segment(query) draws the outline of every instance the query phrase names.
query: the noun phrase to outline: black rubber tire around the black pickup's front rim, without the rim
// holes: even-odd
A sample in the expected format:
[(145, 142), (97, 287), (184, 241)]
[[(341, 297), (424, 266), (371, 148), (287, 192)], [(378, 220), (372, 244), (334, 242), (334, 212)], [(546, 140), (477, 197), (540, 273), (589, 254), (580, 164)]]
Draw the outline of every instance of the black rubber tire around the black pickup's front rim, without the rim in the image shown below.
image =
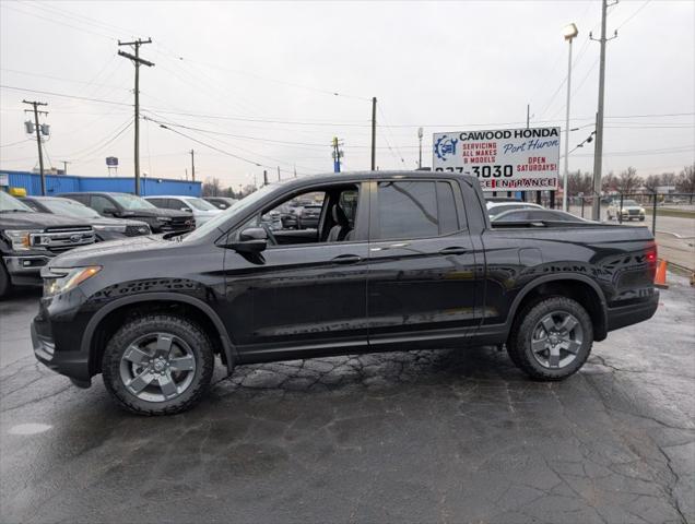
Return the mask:
[[(121, 379), (120, 366), (125, 352), (134, 341), (153, 333), (168, 333), (188, 344), (196, 369), (190, 384), (178, 396), (150, 402), (136, 396)], [(214, 368), (212, 343), (195, 322), (174, 314), (149, 314), (123, 324), (110, 338), (104, 352), (102, 374), (106, 389), (118, 404), (138, 415), (174, 415), (190, 409), (208, 393)]]

